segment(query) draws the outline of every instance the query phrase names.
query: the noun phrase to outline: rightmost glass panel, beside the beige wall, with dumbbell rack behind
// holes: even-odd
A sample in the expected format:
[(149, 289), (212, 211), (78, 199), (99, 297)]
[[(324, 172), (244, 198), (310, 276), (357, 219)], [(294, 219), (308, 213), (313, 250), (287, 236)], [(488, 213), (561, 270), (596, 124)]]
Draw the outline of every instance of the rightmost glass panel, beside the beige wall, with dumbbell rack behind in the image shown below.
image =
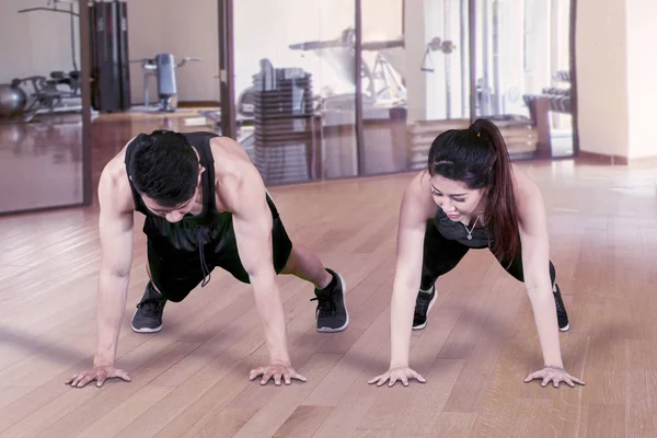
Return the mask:
[(573, 153), (569, 0), (476, 0), (475, 117), (514, 158)]

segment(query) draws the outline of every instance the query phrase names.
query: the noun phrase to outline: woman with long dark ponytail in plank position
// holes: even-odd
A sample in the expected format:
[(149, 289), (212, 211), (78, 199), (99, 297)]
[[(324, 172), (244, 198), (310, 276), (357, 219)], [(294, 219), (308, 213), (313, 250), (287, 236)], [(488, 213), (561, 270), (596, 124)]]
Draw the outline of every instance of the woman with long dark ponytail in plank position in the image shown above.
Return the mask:
[(584, 384), (563, 368), (558, 332), (569, 325), (550, 261), (545, 216), (541, 192), (510, 162), (493, 123), (479, 119), (438, 136), (427, 171), (413, 178), (402, 200), (390, 369), (369, 382), (426, 381), (408, 367), (411, 328), (426, 325), (437, 278), (469, 249), (489, 247), (509, 274), (525, 281), (532, 304), (545, 366), (525, 381)]

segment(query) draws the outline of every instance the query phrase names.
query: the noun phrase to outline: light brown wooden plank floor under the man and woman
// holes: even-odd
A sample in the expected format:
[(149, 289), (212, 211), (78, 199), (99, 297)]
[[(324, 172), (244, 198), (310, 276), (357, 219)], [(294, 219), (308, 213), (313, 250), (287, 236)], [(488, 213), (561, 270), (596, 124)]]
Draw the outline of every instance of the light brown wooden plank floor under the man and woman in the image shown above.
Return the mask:
[[(94, 174), (143, 126), (99, 124)], [(279, 277), (293, 365), (308, 377), (291, 387), (249, 381), (267, 351), (250, 288), (223, 272), (169, 303), (161, 333), (130, 331), (147, 281), (140, 216), (117, 360), (132, 382), (65, 385), (95, 348), (97, 210), (0, 218), (0, 438), (657, 436), (657, 172), (521, 166), (544, 191), (570, 315), (562, 351), (585, 387), (523, 383), (542, 365), (531, 308), (487, 251), (438, 281), (413, 334), (427, 383), (367, 384), (389, 360), (403, 174), (270, 189), (292, 239), (348, 285), (349, 327), (321, 334), (312, 286)]]

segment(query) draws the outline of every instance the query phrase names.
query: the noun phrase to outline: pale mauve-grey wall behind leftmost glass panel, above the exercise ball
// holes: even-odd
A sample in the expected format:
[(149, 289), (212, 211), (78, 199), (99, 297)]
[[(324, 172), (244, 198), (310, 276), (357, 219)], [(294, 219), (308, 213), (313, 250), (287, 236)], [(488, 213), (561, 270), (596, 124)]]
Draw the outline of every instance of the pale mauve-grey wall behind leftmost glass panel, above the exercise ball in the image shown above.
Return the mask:
[[(73, 69), (70, 15), (44, 11), (18, 13), (21, 9), (45, 5), (43, 0), (0, 0), (0, 83)], [(78, 26), (76, 20), (76, 61), (80, 68)], [(31, 91), (30, 87), (27, 90)]]

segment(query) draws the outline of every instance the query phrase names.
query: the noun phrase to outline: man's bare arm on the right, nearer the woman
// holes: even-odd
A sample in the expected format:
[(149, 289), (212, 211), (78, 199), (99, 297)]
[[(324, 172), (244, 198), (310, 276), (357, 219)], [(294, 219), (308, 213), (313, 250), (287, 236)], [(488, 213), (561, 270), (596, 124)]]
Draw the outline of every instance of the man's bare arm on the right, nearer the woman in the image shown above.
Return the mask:
[[(233, 229), (238, 252), (253, 286), (255, 303), (269, 349), (269, 364), (291, 367), (283, 298), (274, 269), (272, 211), (267, 205), (265, 185), (252, 164), (244, 166), (240, 187), (231, 196), (234, 199), (231, 204), (234, 204)], [(286, 383), (288, 382), (286, 378)]]

